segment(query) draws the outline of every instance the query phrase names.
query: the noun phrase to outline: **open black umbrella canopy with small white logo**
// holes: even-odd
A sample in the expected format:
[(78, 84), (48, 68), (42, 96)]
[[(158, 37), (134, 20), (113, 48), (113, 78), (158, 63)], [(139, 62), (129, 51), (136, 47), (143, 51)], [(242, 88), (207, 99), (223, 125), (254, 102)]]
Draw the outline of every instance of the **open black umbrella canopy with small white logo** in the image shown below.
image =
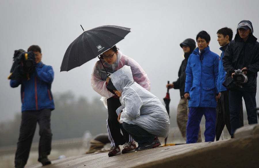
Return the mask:
[[(83, 28), (83, 27), (82, 27)], [(111, 49), (124, 39), (130, 28), (121, 26), (100, 26), (84, 31), (67, 48), (61, 63), (61, 71), (69, 71)]]

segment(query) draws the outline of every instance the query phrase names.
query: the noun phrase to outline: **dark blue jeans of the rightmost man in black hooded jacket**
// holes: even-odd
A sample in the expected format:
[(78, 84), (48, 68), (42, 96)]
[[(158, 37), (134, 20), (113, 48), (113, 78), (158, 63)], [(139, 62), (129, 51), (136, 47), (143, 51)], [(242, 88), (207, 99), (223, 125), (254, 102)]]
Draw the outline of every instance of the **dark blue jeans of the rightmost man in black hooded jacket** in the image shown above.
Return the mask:
[(240, 90), (229, 91), (229, 111), (230, 111), (230, 124), (231, 124), (231, 136), (234, 135), (237, 128), (240, 128), (240, 116), (239, 109), (242, 97), (245, 101), (245, 108), (247, 112), (248, 124), (257, 123), (256, 110), (256, 92), (245, 92)]

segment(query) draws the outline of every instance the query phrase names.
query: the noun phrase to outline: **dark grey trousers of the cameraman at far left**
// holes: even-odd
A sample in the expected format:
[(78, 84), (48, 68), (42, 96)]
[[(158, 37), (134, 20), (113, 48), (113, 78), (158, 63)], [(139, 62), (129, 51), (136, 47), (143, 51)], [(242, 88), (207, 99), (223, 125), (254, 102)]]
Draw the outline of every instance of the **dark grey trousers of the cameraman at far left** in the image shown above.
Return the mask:
[(15, 162), (26, 165), (33, 136), (39, 123), (39, 159), (50, 154), (52, 132), (50, 129), (50, 109), (22, 111), (22, 122), (20, 126), (20, 135), (17, 143)]

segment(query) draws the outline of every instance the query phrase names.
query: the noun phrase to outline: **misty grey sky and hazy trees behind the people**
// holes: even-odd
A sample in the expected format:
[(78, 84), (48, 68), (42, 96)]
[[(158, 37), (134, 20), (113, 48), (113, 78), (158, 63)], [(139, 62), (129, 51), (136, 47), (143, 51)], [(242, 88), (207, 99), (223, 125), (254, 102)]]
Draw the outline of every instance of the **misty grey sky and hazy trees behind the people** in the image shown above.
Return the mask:
[[(103, 25), (131, 28), (132, 32), (117, 47), (142, 66), (151, 81), (151, 92), (163, 102), (167, 91), (165, 85), (168, 80), (177, 80), (184, 59), (180, 43), (186, 38), (196, 39), (198, 32), (205, 30), (211, 36), (210, 50), (220, 55), (216, 32), (227, 26), (233, 29), (234, 38), (241, 20), (252, 22), (254, 36), (258, 38), (258, 6), (259, 1), (254, 0), (2, 0), (0, 131), (14, 127), (12, 130), (17, 132), (8, 132), (16, 135), (14, 143), (17, 142), (21, 114), (20, 86), (11, 88), (7, 79), (16, 49), (27, 50), (31, 45), (39, 45), (43, 63), (52, 65), (54, 69), (54, 139), (66, 138), (63, 133), (56, 132), (68, 130), (74, 132), (68, 135), (70, 137), (83, 136), (84, 130), (96, 135), (106, 133), (108, 115), (100, 101), (101, 96), (92, 89), (90, 81), (98, 58), (68, 72), (60, 72), (67, 47), (83, 33), (80, 24), (84, 30)], [(170, 96), (171, 126), (177, 126), (173, 116), (176, 116), (180, 100), (179, 90), (170, 89)], [(258, 95), (256, 99), (258, 105)]]

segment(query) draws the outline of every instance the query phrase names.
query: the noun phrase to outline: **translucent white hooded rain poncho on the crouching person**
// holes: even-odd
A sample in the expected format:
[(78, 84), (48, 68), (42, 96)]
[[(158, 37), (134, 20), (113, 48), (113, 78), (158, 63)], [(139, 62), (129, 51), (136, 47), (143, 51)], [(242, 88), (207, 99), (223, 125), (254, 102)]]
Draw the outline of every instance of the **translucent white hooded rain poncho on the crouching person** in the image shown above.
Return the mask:
[(129, 66), (125, 65), (111, 76), (111, 81), (121, 92), (122, 110), (120, 123), (136, 124), (157, 137), (167, 137), (170, 128), (170, 119), (165, 106), (161, 101), (139, 84), (133, 81)]

